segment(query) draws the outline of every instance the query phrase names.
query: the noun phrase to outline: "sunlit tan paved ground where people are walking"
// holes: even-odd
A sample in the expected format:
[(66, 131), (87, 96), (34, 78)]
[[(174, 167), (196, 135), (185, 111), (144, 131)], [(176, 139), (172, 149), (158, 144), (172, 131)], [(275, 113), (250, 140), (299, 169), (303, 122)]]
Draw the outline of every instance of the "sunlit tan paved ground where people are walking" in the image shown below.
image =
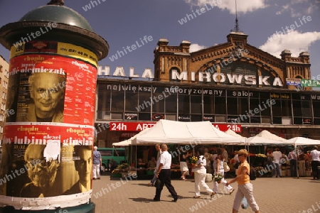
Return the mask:
[[(111, 179), (111, 180), (110, 180)], [(101, 180), (93, 180), (92, 202), (96, 213), (105, 212), (232, 212), (235, 192), (232, 195), (220, 193), (210, 199), (203, 189), (200, 199), (194, 199), (193, 180), (171, 180), (178, 193), (177, 202), (164, 187), (161, 202), (153, 202), (155, 187), (149, 187), (149, 180), (126, 180), (102, 175)], [(213, 182), (207, 182), (213, 187)], [(252, 181), (253, 195), (260, 212), (314, 213), (320, 212), (320, 180), (311, 178), (257, 178)], [(237, 184), (232, 186), (237, 190)], [(309, 211), (309, 212), (308, 212)], [(240, 209), (239, 212), (252, 212)]]

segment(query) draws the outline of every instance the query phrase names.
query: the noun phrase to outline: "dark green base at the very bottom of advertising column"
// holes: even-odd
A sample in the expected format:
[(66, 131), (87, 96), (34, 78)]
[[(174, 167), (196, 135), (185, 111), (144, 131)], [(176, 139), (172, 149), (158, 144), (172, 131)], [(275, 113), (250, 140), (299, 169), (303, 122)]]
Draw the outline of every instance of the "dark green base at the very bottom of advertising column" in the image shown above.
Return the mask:
[(76, 207), (67, 207), (59, 209), (43, 209), (43, 210), (21, 210), (14, 209), (14, 207), (0, 207), (0, 213), (95, 213), (95, 204), (90, 202), (88, 204), (81, 204)]

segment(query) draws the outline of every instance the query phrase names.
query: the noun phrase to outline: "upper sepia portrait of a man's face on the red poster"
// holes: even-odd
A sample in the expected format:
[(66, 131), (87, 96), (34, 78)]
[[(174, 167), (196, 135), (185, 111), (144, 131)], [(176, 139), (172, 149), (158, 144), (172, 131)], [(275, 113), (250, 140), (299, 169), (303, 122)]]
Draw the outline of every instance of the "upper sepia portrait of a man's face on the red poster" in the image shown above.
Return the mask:
[(16, 121), (63, 123), (65, 80), (52, 72), (21, 73)]

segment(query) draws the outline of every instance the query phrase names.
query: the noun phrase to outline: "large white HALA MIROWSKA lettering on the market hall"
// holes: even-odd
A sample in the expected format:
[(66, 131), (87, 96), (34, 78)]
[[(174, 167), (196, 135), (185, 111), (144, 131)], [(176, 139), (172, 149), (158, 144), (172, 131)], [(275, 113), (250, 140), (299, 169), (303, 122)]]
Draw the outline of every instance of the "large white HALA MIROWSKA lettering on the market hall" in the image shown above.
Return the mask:
[[(191, 82), (217, 82), (223, 84), (246, 84), (246, 85), (265, 85), (272, 87), (283, 87), (282, 81), (279, 77), (270, 77), (263, 75), (238, 75), (238, 74), (225, 74), (220, 72), (198, 72), (198, 79), (196, 79), (197, 72), (189, 72), (191, 75)], [(110, 75), (110, 67), (105, 66), (105, 69), (102, 69), (102, 66), (98, 66), (97, 75), (100, 76), (113, 76), (113, 77), (129, 77), (137, 78), (140, 77), (139, 74), (134, 73), (134, 67), (130, 67), (129, 76), (124, 72), (123, 67), (116, 67), (113, 74)], [(142, 78), (154, 78), (154, 74), (150, 68), (144, 69), (142, 73)], [(171, 70), (171, 80), (188, 80), (188, 72), (183, 71), (181, 73), (178, 70)]]

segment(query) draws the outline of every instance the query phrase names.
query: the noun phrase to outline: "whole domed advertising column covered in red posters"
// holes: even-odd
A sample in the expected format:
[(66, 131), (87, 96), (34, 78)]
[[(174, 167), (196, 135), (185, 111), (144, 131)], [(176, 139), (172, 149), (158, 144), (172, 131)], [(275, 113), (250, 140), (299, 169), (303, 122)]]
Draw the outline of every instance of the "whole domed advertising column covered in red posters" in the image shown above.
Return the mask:
[(107, 42), (60, 3), (0, 28), (0, 43), (11, 50), (0, 212), (92, 212), (97, 61)]

